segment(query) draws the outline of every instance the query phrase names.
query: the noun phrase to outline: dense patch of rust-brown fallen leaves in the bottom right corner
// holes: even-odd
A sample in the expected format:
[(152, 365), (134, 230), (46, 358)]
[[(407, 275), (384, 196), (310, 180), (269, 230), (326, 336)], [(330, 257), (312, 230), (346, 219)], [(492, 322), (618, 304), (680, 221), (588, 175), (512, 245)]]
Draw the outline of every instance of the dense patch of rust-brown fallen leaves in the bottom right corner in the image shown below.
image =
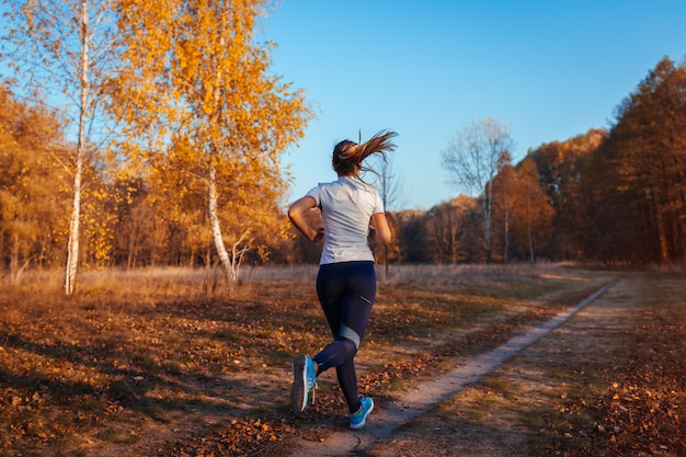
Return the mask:
[[(638, 312), (629, 359), (608, 370), (596, 400), (568, 399), (558, 405), (570, 424), (580, 414), (595, 421), (569, 431), (556, 425), (559, 439), (552, 439), (551, 454), (686, 455), (686, 312), (681, 307), (663, 304)], [(587, 444), (569, 448), (572, 438)]]

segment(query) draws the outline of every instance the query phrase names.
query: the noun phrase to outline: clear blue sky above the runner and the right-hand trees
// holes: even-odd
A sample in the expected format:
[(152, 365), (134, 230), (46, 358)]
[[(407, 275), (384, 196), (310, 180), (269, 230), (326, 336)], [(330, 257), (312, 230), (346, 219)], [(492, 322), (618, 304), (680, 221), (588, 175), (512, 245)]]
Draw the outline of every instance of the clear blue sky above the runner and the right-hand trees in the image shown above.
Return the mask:
[(456, 130), (508, 125), (515, 161), (541, 144), (608, 127), (664, 56), (686, 57), (686, 1), (284, 0), (262, 21), (273, 70), (317, 118), (284, 162), (288, 201), (335, 179), (333, 145), (390, 128), (399, 208), (459, 194), (441, 167)]

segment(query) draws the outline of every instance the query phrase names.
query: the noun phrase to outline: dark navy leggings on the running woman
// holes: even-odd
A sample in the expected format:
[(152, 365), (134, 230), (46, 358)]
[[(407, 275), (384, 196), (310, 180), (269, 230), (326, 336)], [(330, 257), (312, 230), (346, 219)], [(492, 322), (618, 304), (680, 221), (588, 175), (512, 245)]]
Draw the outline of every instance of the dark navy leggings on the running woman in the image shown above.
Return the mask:
[(351, 413), (359, 409), (354, 357), (367, 329), (376, 297), (373, 262), (324, 264), (317, 275), (317, 296), (333, 342), (313, 358), (319, 373), (335, 367), (339, 385)]

